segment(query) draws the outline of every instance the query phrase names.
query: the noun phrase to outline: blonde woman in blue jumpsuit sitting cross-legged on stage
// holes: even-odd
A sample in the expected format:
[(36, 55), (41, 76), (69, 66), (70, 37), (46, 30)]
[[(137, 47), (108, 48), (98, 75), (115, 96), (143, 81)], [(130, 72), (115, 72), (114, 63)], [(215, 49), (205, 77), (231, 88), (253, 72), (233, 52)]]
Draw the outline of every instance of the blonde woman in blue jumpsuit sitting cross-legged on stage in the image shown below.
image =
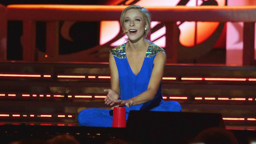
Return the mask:
[[(146, 8), (125, 8), (120, 23), (128, 41), (109, 54), (111, 89), (104, 89), (108, 93), (105, 104), (126, 107), (126, 119), (130, 110), (181, 111), (179, 103), (163, 101), (161, 82), (166, 55), (164, 49), (146, 39), (150, 22)], [(78, 114), (81, 126), (111, 127), (112, 119), (109, 109), (86, 109)]]

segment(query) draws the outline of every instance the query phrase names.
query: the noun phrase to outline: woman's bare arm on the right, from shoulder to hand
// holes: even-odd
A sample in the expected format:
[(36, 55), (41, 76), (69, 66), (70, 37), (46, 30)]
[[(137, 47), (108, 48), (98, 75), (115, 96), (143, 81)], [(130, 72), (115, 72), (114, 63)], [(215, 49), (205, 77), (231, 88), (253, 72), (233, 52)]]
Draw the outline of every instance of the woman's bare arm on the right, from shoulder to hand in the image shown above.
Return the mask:
[(152, 100), (158, 91), (159, 85), (161, 84), (163, 73), (164, 73), (165, 62), (166, 62), (165, 52), (158, 53), (153, 62), (154, 68), (152, 70), (147, 91), (131, 99), (120, 100), (118, 106), (130, 107), (131, 105), (139, 105)]

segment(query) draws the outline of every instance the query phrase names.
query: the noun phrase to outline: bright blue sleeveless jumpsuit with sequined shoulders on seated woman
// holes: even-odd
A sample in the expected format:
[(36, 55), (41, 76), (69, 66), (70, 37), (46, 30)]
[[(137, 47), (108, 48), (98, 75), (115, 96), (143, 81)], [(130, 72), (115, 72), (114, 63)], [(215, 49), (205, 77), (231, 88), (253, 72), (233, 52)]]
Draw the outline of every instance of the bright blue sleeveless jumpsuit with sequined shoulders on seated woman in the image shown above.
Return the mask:
[[(154, 58), (161, 51), (164, 51), (164, 49), (150, 42), (140, 72), (134, 75), (126, 58), (125, 44), (110, 50), (118, 68), (121, 100), (133, 98), (148, 89), (154, 67)], [(140, 105), (132, 105), (129, 108), (126, 107), (126, 119), (130, 110), (181, 112), (181, 106), (175, 101), (163, 101), (160, 84), (153, 100)], [(79, 112), (77, 120), (80, 126), (112, 127), (113, 116), (110, 112), (109, 109), (85, 109)]]

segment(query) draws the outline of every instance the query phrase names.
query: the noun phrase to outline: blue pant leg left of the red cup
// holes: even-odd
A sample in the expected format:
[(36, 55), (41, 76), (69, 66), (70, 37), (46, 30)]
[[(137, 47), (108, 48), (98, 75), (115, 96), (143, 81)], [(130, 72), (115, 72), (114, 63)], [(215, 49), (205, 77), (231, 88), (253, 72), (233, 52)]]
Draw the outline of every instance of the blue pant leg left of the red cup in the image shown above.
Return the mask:
[(85, 109), (79, 112), (77, 120), (80, 126), (87, 127), (112, 127), (113, 116), (109, 109)]

